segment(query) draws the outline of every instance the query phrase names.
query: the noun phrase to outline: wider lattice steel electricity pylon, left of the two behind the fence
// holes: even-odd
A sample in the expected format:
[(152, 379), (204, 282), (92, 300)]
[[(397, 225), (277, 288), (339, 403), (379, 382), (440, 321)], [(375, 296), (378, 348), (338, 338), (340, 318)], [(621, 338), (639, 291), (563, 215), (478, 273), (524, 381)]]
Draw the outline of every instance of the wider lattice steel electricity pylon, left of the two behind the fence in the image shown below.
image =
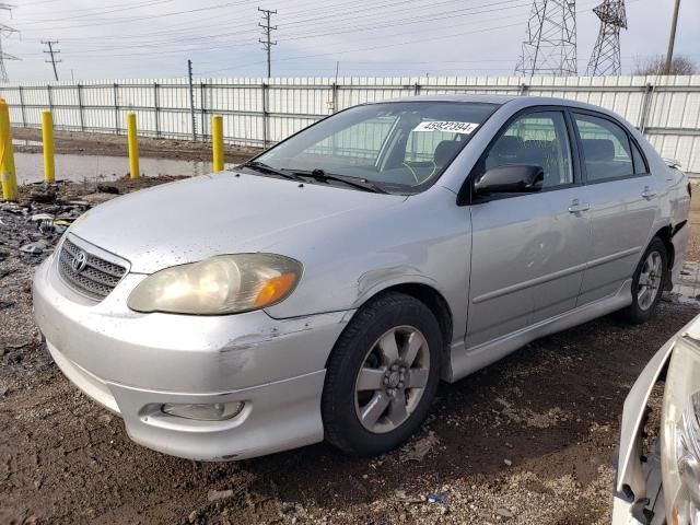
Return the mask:
[(516, 74), (576, 74), (575, 0), (533, 0), (525, 38)]

